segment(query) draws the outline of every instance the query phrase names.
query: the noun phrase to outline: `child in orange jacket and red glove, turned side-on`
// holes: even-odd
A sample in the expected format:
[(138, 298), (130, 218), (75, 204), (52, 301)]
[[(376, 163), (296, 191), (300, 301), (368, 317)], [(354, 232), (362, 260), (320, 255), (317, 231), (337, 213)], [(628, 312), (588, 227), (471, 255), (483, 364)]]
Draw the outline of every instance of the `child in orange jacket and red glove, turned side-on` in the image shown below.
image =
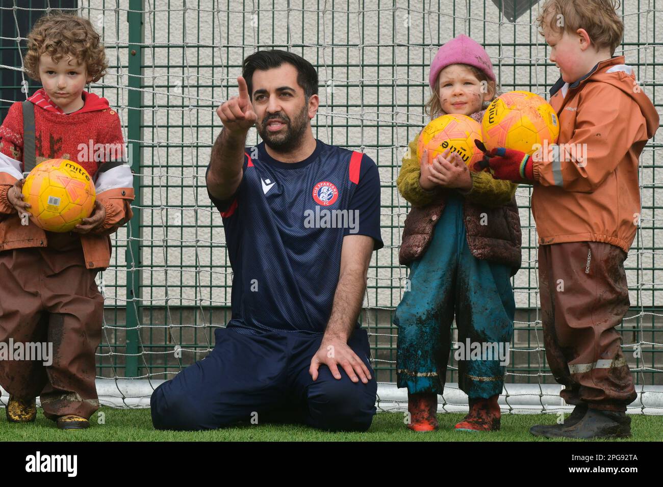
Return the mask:
[(630, 306), (624, 261), (642, 211), (639, 158), (660, 117), (633, 66), (615, 56), (619, 2), (547, 0), (536, 22), (560, 68), (549, 99), (557, 144), (532, 156), (505, 147), (485, 156), (494, 178), (533, 186), (546, 359), (574, 406), (564, 422), (530, 433), (626, 438), (638, 394), (616, 327)]

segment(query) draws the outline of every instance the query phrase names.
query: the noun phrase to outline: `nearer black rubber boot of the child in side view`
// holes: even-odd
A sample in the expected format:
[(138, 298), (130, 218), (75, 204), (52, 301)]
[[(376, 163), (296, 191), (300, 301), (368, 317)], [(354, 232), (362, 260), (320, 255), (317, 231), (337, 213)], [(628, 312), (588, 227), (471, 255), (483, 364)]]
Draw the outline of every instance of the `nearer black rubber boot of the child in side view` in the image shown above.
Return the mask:
[(631, 436), (631, 418), (623, 411), (587, 409), (575, 425), (548, 431), (546, 438), (628, 438)]

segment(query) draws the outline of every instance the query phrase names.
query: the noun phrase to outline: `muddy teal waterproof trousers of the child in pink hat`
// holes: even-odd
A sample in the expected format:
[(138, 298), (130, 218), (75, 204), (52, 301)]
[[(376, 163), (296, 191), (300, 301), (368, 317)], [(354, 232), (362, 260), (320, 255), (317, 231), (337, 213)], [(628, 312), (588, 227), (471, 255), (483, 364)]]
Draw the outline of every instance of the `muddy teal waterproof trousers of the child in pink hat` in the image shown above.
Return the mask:
[(472, 357), (467, 345), (490, 343), (507, 350), (515, 313), (510, 278), (509, 266), (472, 255), (463, 199), (450, 195), (430, 246), (410, 266), (408, 288), (394, 315), (398, 387), (410, 394), (442, 394), (455, 314), (459, 352), (464, 352), (458, 360), (459, 387), (470, 398), (500, 394), (508, 359), (490, 351)]

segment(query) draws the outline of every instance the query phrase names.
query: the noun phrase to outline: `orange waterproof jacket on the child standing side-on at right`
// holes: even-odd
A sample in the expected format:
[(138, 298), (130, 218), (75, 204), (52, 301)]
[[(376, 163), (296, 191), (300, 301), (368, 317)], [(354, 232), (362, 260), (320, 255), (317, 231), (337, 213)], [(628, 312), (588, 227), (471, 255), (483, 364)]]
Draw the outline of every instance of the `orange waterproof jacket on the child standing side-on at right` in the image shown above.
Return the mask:
[(638, 158), (658, 129), (658, 113), (624, 63), (615, 56), (571, 85), (560, 78), (550, 90), (560, 137), (552, 157), (533, 160), (539, 244), (595, 241), (628, 252), (633, 243)]

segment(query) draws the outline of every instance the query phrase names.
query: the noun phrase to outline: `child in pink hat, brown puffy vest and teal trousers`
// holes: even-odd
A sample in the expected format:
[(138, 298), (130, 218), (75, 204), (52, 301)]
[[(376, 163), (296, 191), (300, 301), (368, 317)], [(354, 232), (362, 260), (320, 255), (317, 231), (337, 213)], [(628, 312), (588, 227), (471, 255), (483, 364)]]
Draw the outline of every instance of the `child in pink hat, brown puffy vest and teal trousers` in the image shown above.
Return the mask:
[[(426, 113), (432, 119), (459, 113), (481, 122), (497, 94), (488, 54), (462, 34), (438, 50), (429, 82)], [(410, 286), (394, 315), (398, 387), (408, 389), (408, 427), (438, 427), (437, 394), (444, 390), (455, 315), (458, 383), (469, 397), (469, 414), (455, 427), (499, 429), (497, 399), (515, 312), (511, 276), (520, 268), (516, 184), (470, 172), (459, 154), (448, 150), (432, 164), (425, 151), (418, 160), (417, 144), (418, 136), (396, 182), (412, 204), (399, 253), (400, 263), (410, 267)], [(483, 350), (480, 356), (470, 354), (475, 346)]]

